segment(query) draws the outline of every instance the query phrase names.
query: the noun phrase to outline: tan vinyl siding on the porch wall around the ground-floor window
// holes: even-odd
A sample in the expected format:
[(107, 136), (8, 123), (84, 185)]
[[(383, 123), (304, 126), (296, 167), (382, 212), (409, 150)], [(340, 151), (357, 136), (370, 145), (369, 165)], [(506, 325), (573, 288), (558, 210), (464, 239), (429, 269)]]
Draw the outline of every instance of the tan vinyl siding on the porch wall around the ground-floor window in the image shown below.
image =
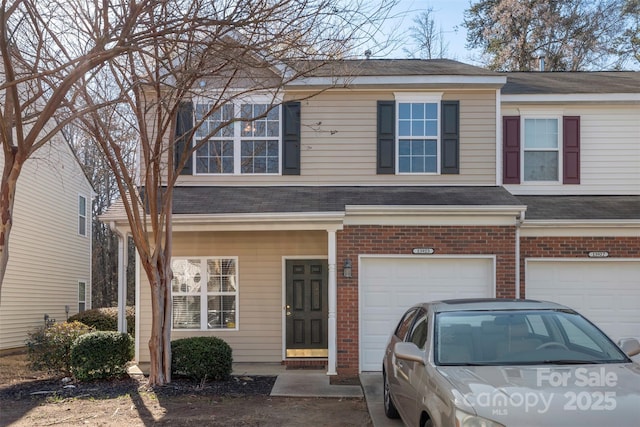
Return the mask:
[[(235, 362), (282, 361), (282, 273), (284, 257), (326, 258), (327, 234), (321, 231), (176, 232), (175, 257), (238, 257), (238, 330), (174, 330), (171, 339), (217, 336), (233, 349)], [(151, 294), (141, 268), (139, 361), (149, 361)]]

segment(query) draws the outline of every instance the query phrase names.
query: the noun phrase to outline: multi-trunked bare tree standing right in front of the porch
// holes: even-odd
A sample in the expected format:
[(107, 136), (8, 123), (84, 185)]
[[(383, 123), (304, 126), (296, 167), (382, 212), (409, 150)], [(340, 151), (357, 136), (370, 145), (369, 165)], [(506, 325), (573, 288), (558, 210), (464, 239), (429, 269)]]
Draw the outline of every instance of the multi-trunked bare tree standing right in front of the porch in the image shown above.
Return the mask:
[[(242, 120), (264, 117), (281, 103), (287, 83), (360, 50), (393, 3), (167, 0), (157, 5), (146, 23), (157, 34), (154, 44), (131, 50), (109, 64), (107, 80), (120, 92), (120, 105), (93, 108), (100, 103), (101, 91), (94, 84), (77, 85), (76, 105), (70, 108), (92, 111), (81, 123), (114, 173), (121, 196), (118, 203), (126, 212), (149, 282), (151, 384), (171, 381), (174, 186), (207, 138), (240, 119), (220, 114), (218, 126), (207, 128), (208, 135), (199, 135), (201, 142), (193, 141), (195, 132), (223, 106), (250, 95), (268, 94), (268, 108)], [(172, 31), (166, 31), (168, 23)], [(201, 82), (206, 82), (207, 90)], [(195, 99), (206, 106), (197, 117), (189, 107)], [(131, 170), (120, 142), (113, 137), (111, 125), (116, 121), (130, 123), (139, 133), (139, 171)], [(193, 126), (185, 126), (192, 121)]]

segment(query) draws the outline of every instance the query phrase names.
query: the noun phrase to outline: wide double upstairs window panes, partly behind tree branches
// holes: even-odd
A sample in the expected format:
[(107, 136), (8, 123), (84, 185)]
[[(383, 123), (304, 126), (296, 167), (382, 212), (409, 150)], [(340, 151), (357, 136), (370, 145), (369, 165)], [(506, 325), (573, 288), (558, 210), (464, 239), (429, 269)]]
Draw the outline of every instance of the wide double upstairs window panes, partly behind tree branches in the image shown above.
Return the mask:
[[(196, 122), (211, 109), (196, 105)], [(230, 123), (233, 119), (237, 121)], [(225, 123), (229, 123), (225, 125)], [(266, 103), (225, 104), (197, 129), (197, 174), (280, 173), (280, 107)]]

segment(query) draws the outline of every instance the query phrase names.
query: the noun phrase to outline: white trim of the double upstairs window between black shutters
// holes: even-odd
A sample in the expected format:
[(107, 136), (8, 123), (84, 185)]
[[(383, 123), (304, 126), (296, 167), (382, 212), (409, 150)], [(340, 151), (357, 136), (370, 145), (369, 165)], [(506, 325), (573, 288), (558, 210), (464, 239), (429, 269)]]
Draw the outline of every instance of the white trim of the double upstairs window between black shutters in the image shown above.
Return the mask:
[[(216, 99), (216, 97), (214, 96), (213, 99), (205, 97), (205, 96), (199, 96), (199, 97), (195, 97), (193, 99), (193, 103), (194, 103), (194, 107), (199, 105), (199, 104), (211, 104), (211, 102), (220, 102), (220, 99)], [(268, 95), (268, 94), (264, 94), (264, 93), (252, 93), (252, 94), (246, 94), (246, 95), (242, 95), (242, 96), (237, 96), (237, 97), (233, 97), (232, 99), (230, 99), (227, 102), (224, 102), (221, 105), (226, 105), (226, 104), (232, 104), (233, 105), (233, 117), (239, 117), (240, 116), (240, 108), (242, 104), (267, 104), (267, 105), (274, 105), (275, 108), (278, 110), (278, 120), (280, 122), (280, 129), (279, 129), (279, 135), (278, 135), (278, 172), (272, 172), (272, 173), (242, 173), (242, 140), (243, 139), (249, 139), (249, 137), (242, 137), (242, 121), (237, 121), (233, 123), (233, 137), (230, 138), (217, 138), (217, 139), (213, 139), (213, 141), (221, 141), (221, 140), (226, 140), (226, 141), (233, 141), (233, 173), (211, 173), (211, 172), (198, 172), (197, 171), (197, 161), (196, 161), (196, 154), (197, 154), (197, 150), (196, 152), (193, 153), (193, 156), (191, 156), (191, 166), (192, 166), (192, 171), (193, 171), (193, 175), (195, 176), (280, 176), (282, 175), (282, 104), (283, 104), (283, 100), (282, 100), (282, 95), (281, 94), (277, 94), (277, 95)], [(194, 108), (194, 114), (195, 114), (195, 108)], [(273, 137), (259, 137), (257, 140), (273, 140)], [(194, 133), (193, 136), (193, 141), (192, 143), (195, 144), (195, 140), (196, 140), (196, 136)]]

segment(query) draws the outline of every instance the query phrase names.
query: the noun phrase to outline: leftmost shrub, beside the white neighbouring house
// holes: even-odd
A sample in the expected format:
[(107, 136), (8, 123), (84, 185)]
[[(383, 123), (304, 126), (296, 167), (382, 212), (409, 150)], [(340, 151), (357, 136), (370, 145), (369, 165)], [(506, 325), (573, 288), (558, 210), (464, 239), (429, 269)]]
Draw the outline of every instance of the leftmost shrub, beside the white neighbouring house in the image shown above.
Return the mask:
[(80, 322), (55, 323), (29, 333), (27, 357), (32, 369), (71, 374), (71, 347), (76, 338), (93, 331)]

